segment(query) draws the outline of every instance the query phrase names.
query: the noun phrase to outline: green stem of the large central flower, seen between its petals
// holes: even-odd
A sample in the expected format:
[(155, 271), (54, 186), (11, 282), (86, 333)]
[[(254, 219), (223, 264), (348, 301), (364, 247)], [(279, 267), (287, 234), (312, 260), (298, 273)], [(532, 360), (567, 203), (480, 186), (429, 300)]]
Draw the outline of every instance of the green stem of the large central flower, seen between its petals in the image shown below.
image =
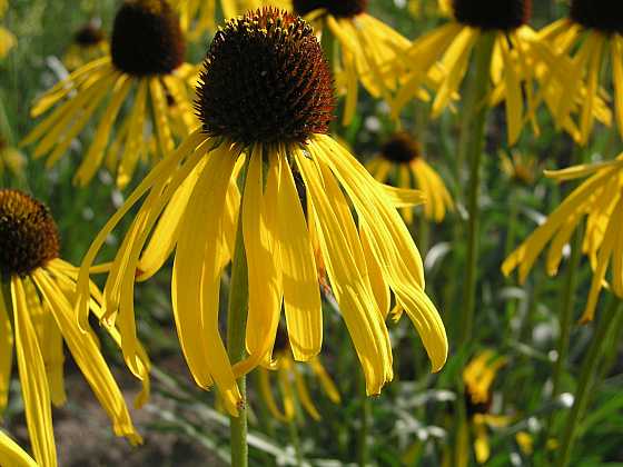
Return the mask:
[[(246, 167), (241, 177), (241, 196), (246, 179)], [(247, 324), (247, 307), (249, 301), (247, 256), (243, 239), (243, 210), (238, 217), (236, 246), (231, 260), (231, 280), (229, 286), (229, 304), (227, 307), (227, 351), (231, 364), (245, 357), (245, 329)], [(243, 405), (238, 408), (238, 417), (230, 417), (229, 431), (231, 444), (231, 466), (248, 466), (247, 446), (247, 408), (246, 408), (246, 377), (238, 378), (238, 388), (243, 395)]]

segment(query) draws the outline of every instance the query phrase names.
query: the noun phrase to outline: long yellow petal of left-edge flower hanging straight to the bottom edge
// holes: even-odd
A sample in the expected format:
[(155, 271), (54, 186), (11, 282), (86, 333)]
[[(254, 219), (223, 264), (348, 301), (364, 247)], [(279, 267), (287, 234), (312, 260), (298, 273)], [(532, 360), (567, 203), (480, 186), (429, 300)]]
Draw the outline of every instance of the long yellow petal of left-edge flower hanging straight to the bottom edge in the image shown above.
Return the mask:
[(18, 369), (30, 444), (38, 464), (56, 467), (57, 451), (46, 364), (30, 319), (23, 285), (17, 276), (11, 277), (11, 298)]

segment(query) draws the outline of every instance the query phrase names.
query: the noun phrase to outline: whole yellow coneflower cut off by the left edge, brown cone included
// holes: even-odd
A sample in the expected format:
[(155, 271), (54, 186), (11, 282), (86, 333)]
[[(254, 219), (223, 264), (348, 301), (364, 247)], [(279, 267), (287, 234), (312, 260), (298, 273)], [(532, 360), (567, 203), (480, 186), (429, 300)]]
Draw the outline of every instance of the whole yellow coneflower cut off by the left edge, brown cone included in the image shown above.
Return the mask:
[[(20, 191), (0, 190), (0, 411), (8, 403), (13, 348), (21, 382), (26, 421), (34, 459), (57, 465), (51, 404), (66, 400), (63, 342), (85, 375), (118, 436), (140, 443), (123, 396), (99, 349), (95, 332), (76, 322), (73, 299), (78, 270), (59, 258), (59, 238), (48, 209)], [(101, 317), (100, 294), (87, 284), (88, 307)], [(108, 334), (119, 344), (115, 327)], [(137, 376), (149, 389), (148, 360), (139, 351)]]

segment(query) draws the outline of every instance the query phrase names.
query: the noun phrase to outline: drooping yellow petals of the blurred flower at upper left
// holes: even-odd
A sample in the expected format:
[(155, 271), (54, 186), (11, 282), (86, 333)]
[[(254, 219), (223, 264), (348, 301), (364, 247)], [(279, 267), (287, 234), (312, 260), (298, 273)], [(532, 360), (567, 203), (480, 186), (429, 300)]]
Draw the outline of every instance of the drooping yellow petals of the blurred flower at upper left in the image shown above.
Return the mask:
[[(95, 137), (73, 177), (86, 186), (106, 163), (125, 187), (138, 162), (147, 156), (165, 157), (175, 138), (185, 138), (198, 126), (190, 88), (196, 70), (182, 64), (166, 76), (135, 77), (118, 70), (110, 57), (96, 59), (73, 71), (38, 99), (32, 117), (51, 112), (27, 135), (22, 146), (34, 145), (33, 157), (53, 166), (83, 131), (96, 110), (103, 109)], [(131, 101), (131, 110), (122, 108)], [(156, 149), (145, 145), (152, 128)]]

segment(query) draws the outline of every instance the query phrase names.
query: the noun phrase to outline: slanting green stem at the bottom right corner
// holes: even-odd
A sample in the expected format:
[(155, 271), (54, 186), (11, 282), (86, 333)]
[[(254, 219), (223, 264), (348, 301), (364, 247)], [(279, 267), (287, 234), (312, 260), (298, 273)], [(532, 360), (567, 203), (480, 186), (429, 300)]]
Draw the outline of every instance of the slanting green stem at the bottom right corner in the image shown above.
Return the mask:
[(596, 389), (593, 387), (593, 381), (595, 379), (595, 374), (597, 372), (600, 357), (603, 354), (602, 350), (605, 337), (611, 328), (611, 325), (616, 318), (620, 305), (621, 300), (616, 297), (612, 297), (612, 301), (605, 309), (603, 316), (599, 316), (595, 319), (596, 329), (591, 337), (591, 345), (584, 356), (584, 361), (582, 362), (575, 399), (565, 424), (561, 450), (556, 463), (557, 467), (566, 467), (571, 459), (577, 426), (584, 415), (584, 410), (586, 409), (591, 395), (594, 394)]

